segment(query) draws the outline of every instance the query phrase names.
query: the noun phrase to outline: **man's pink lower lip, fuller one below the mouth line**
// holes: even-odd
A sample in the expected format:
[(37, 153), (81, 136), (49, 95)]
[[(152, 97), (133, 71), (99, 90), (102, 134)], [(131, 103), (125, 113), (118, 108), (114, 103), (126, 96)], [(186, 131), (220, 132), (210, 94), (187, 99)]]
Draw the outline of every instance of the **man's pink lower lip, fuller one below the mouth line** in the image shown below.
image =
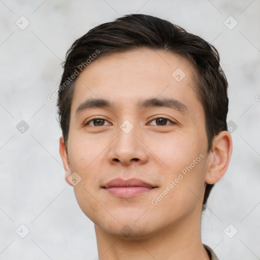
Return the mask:
[(131, 198), (135, 197), (138, 194), (142, 194), (152, 190), (152, 188), (142, 187), (142, 186), (134, 186), (134, 187), (110, 187), (106, 188), (106, 190), (112, 195), (120, 198)]

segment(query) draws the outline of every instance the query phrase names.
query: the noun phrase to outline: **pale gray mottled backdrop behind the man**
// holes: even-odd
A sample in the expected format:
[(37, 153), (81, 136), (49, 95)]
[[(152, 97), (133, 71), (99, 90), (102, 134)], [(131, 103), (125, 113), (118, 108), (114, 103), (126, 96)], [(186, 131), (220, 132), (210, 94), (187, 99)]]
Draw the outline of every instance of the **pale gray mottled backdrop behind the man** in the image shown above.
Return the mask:
[[(220, 259), (259, 259), (259, 0), (0, 1), (0, 259), (98, 257), (93, 224), (64, 180), (56, 100), (47, 96), (58, 87), (71, 44), (93, 26), (129, 13), (168, 19), (219, 51), (234, 150), (203, 213), (202, 238)], [(26, 28), (21, 16), (29, 21)], [(24, 133), (16, 127), (22, 120), (29, 126), (20, 128)], [(25, 238), (21, 224), (29, 229)]]

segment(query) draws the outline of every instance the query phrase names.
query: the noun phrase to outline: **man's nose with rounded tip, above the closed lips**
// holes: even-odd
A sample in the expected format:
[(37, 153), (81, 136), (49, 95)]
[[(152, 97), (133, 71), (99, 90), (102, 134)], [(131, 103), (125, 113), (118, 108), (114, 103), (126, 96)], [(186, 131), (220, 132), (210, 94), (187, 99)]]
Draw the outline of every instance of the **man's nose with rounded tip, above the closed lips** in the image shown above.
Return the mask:
[(110, 145), (107, 154), (109, 162), (124, 166), (145, 164), (149, 157), (148, 148), (141, 141), (143, 138), (140, 131), (137, 131), (137, 127), (134, 127), (129, 133), (122, 129), (118, 129), (117, 138)]

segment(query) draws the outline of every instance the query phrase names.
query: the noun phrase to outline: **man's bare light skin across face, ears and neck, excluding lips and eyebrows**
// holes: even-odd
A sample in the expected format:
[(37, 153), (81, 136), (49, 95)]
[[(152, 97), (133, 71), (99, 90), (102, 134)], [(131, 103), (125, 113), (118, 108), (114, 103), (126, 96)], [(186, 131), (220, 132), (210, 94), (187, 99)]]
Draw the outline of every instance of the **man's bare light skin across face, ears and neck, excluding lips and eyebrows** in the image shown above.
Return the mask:
[[(178, 68), (186, 75), (180, 82), (172, 76)], [(229, 132), (219, 133), (207, 152), (193, 77), (185, 58), (147, 48), (100, 57), (78, 76), (67, 149), (61, 137), (59, 151), (67, 182), (72, 185), (74, 172), (81, 177), (74, 192), (94, 222), (100, 259), (210, 259), (201, 241), (202, 202), (206, 183), (219, 181), (228, 168), (232, 139)], [(175, 99), (187, 110), (136, 107), (151, 98)], [(114, 107), (76, 113), (88, 99), (106, 99)], [(125, 120), (133, 125), (127, 134), (120, 128)], [(153, 205), (200, 154), (204, 158)], [(139, 178), (156, 188), (118, 198), (103, 188), (114, 178)]]

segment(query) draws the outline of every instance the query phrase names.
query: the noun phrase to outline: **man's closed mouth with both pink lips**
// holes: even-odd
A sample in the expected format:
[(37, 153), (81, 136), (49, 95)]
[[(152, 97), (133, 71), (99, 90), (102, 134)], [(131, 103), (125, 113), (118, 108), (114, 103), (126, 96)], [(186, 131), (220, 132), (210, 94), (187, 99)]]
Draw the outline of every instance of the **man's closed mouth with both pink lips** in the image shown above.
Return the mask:
[(115, 197), (132, 198), (139, 194), (149, 192), (157, 188), (157, 186), (153, 186), (150, 183), (136, 178), (128, 180), (117, 178), (109, 181), (102, 188)]

